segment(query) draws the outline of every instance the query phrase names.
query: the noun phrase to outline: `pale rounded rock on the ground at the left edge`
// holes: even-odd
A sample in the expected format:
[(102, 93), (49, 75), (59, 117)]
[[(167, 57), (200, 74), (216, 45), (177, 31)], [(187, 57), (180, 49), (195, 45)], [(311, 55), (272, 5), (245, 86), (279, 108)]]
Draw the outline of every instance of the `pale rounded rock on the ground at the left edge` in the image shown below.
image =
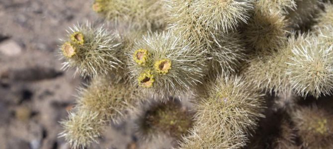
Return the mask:
[(22, 48), (13, 40), (5, 40), (0, 43), (0, 52), (6, 56), (16, 56), (22, 52)]

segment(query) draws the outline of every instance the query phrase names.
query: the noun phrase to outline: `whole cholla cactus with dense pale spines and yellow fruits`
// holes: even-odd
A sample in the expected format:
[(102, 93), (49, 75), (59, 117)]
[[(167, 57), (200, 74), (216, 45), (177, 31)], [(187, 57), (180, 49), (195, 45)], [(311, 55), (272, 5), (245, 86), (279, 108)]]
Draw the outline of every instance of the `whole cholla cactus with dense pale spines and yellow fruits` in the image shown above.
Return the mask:
[[(333, 95), (329, 0), (94, 0), (92, 9), (112, 31), (75, 26), (59, 50), (65, 69), (92, 80), (61, 122), (74, 148), (137, 109), (139, 140), (172, 137), (177, 149), (332, 148), (330, 111), (304, 108)], [(191, 99), (194, 117), (170, 98)], [(276, 114), (274, 128), (263, 126)], [(267, 132), (250, 143), (255, 131)]]

